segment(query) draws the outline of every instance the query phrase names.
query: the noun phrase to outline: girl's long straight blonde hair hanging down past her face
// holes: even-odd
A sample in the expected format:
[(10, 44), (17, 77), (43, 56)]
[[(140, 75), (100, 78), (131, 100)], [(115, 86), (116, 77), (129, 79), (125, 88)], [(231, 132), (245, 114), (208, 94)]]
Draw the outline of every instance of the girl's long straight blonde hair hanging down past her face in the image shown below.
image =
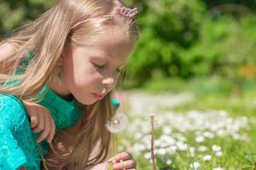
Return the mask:
[[(55, 79), (57, 64), (63, 49), (69, 45), (79, 44), (86, 37), (104, 32), (104, 26), (122, 26), (127, 33), (127, 38), (136, 41), (138, 32), (134, 18), (114, 16), (119, 8), (124, 6), (125, 4), (120, 0), (60, 0), (38, 20), (20, 27), (14, 35), (0, 43), (0, 45), (6, 42), (15, 44), (13, 54), (0, 59), (0, 65), (3, 65), (0, 71), (0, 83), (22, 81), (15, 86), (0, 86), (0, 94), (12, 94), (20, 99), (33, 101), (44, 85), (49, 85)], [(82, 17), (93, 18), (95, 14), (112, 13), (113, 16), (96, 17), (71, 30), (73, 24)], [(34, 59), (29, 61), (23, 74), (14, 76), (20, 62), (25, 59), (27, 51), (32, 51), (35, 55)], [(36, 100), (38, 101), (40, 99)], [(55, 162), (60, 169), (82, 169), (102, 162), (108, 156), (111, 134), (104, 125), (113, 116), (110, 94), (101, 101), (87, 106), (86, 109), (84, 105), (78, 105), (84, 110), (84, 114), (77, 138), (66, 147), (66, 150), (67, 148), (70, 150), (63, 154), (63, 150), (58, 148), (58, 144), (65, 140), (61, 135), (63, 132), (57, 134), (55, 143), (52, 145), (53, 153), (61, 156), (59, 159), (61, 161)], [(68, 137), (65, 136), (65, 138)], [(92, 152), (94, 152), (93, 156)]]

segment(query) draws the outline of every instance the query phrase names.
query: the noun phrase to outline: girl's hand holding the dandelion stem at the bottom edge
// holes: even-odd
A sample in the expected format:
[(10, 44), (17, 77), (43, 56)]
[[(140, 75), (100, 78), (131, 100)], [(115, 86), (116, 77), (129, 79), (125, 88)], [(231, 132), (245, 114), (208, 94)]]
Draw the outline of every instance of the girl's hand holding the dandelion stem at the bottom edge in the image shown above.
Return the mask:
[(122, 152), (113, 156), (109, 161), (113, 162), (113, 170), (129, 169), (136, 170), (137, 162), (128, 152)]

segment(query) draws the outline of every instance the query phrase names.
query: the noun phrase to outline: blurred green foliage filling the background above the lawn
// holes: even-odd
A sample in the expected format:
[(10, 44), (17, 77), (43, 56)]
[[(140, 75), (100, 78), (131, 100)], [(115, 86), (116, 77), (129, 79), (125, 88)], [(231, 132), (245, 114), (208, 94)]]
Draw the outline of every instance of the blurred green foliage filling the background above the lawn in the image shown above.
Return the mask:
[[(37, 18), (56, 1), (2, 0), (1, 37)], [(256, 65), (253, 0), (125, 2), (139, 9), (140, 28), (140, 40), (125, 74), (129, 82), (126, 86), (141, 87), (151, 78), (217, 75), (239, 89), (247, 78), (241, 74), (241, 66)], [(225, 4), (236, 8), (222, 8)]]

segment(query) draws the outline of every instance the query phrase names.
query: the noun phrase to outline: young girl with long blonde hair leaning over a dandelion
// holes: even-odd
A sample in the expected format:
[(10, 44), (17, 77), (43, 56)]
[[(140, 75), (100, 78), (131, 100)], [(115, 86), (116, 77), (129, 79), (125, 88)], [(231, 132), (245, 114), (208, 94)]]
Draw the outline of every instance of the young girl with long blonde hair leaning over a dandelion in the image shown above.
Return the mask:
[[(137, 42), (136, 13), (119, 0), (60, 0), (0, 43), (0, 169), (108, 169), (105, 123)], [(56, 128), (52, 144), (37, 144), (26, 112), (32, 105), (42, 105), (45, 128)], [(136, 169), (127, 152), (110, 161)]]

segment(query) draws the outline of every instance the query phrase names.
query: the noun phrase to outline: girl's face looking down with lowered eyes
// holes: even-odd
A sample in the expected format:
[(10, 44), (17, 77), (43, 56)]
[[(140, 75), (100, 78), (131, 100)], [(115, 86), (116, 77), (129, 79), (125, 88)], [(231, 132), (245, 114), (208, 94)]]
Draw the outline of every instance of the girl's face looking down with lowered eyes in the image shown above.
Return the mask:
[[(84, 105), (91, 105), (114, 88), (119, 71), (135, 47), (119, 26), (108, 26), (104, 34), (84, 39), (62, 55), (62, 85), (55, 91), (63, 97), (72, 94)], [(106, 90), (105, 90), (106, 89)]]

